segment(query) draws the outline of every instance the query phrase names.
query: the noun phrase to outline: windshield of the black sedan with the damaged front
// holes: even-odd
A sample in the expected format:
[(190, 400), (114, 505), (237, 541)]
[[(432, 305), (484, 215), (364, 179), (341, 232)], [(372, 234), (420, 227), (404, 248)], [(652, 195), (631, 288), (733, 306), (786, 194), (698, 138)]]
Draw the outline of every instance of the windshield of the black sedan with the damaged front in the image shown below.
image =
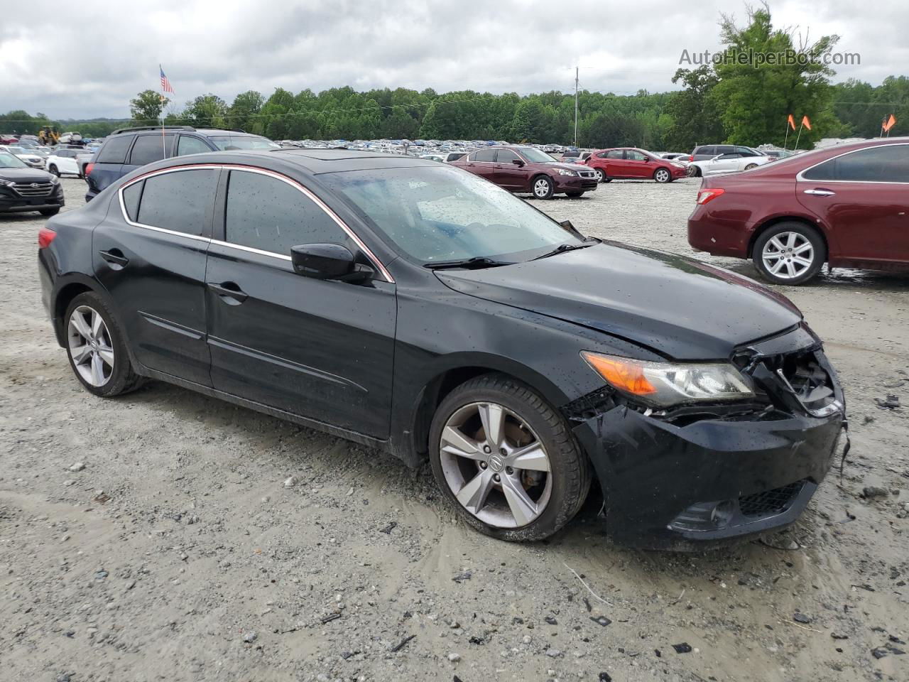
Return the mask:
[(319, 179), (421, 264), (517, 262), (582, 243), (523, 199), (456, 168), (383, 168)]

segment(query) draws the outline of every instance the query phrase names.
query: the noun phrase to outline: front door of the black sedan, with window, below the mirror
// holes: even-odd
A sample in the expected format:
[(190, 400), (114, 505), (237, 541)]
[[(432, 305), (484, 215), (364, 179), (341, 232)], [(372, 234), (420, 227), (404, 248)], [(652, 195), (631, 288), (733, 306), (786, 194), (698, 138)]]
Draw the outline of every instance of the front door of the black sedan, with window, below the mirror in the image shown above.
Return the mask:
[(221, 194), (205, 275), (215, 388), (386, 438), (394, 283), (378, 273), (360, 284), (297, 275), (292, 246), (359, 247), (284, 176), (233, 169)]

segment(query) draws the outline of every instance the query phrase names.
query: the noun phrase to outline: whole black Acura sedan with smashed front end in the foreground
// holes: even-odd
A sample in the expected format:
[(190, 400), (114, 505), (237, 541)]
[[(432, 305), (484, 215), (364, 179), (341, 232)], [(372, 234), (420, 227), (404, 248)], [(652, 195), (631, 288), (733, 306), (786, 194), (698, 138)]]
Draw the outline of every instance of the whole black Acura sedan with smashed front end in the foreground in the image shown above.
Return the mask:
[(50, 220), (76, 378), (171, 382), (426, 458), (467, 523), (552, 535), (594, 478), (651, 547), (788, 524), (844, 398), (783, 296), (602, 243), (432, 161), (346, 150), (157, 162)]

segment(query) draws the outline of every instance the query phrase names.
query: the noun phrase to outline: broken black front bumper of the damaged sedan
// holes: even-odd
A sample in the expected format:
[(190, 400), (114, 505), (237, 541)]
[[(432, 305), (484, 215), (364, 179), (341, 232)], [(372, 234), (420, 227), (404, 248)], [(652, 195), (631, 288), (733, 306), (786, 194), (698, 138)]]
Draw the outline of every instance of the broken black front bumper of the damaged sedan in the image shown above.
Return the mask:
[[(692, 549), (802, 513), (848, 442), (834, 370), (804, 327), (743, 349), (740, 364), (764, 389), (763, 406), (654, 414), (603, 396), (574, 406), (574, 435), (594, 463), (615, 541)], [(804, 385), (805, 366), (823, 366), (823, 405), (823, 386)]]

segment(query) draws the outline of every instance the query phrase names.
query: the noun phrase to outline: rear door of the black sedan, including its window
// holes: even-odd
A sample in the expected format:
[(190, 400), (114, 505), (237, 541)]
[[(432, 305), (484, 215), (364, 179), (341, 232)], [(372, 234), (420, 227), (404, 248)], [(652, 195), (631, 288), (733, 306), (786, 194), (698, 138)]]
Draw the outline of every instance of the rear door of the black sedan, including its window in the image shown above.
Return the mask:
[(204, 386), (205, 252), (220, 172), (168, 169), (135, 181), (112, 198), (92, 236), (95, 276), (136, 359)]

